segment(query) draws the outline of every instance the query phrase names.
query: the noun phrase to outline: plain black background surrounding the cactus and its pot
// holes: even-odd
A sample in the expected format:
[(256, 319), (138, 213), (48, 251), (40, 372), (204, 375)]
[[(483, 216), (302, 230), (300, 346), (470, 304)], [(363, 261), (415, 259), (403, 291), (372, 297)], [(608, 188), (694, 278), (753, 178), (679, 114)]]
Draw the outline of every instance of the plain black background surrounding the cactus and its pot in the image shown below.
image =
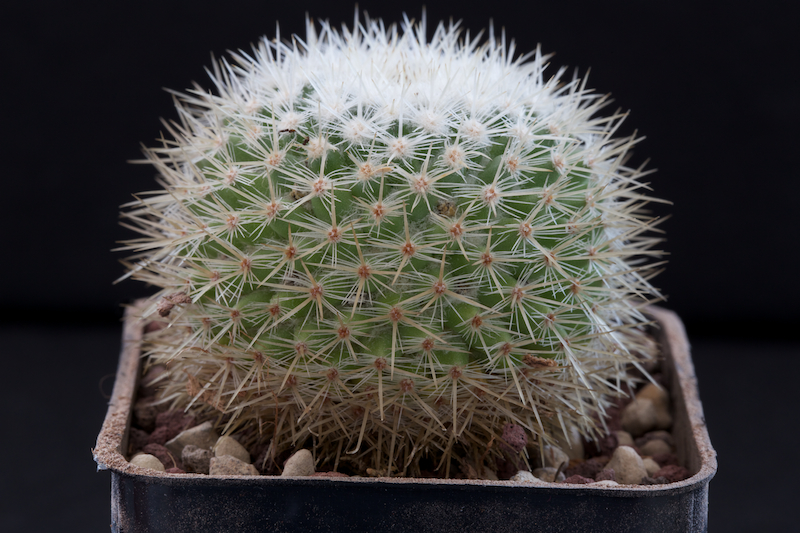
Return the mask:
[[(0, 126), (0, 529), (108, 527), (108, 474), (90, 448), (118, 350), (120, 304), (148, 293), (110, 250), (118, 206), (154, 185), (126, 161), (175, 118), (163, 87), (205, 86), (210, 53), (304, 32), (325, 2), (64, 2), (2, 13)], [(711, 531), (790, 531), (794, 377), (800, 371), (796, 18), (782, 2), (431, 2), (474, 33), (493, 19), (519, 51), (591, 67), (589, 85), (630, 110), (654, 194), (673, 202), (670, 264), (655, 284), (686, 322), (720, 473)], [(360, 2), (385, 21), (414, 2)], [(553, 69), (555, 70), (555, 69)], [(610, 108), (609, 111), (613, 110)], [(49, 426), (48, 426), (49, 424)], [(766, 451), (760, 447), (767, 447)], [(45, 505), (51, 506), (46, 511)], [(55, 507), (52, 507), (55, 506)], [(795, 526), (797, 527), (797, 526)]]

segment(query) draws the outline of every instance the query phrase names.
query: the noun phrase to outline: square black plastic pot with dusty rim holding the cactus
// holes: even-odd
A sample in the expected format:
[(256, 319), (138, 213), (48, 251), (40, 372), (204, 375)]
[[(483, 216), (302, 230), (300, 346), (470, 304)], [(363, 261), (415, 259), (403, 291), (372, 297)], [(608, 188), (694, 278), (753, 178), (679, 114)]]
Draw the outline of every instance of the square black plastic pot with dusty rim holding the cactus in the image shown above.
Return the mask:
[(153, 475), (128, 463), (131, 406), (139, 375), (141, 324), (128, 314), (113, 396), (94, 449), (111, 471), (114, 532), (408, 531), (437, 533), (676, 533), (708, 529), (708, 484), (716, 453), (703, 418), (689, 345), (678, 317), (650, 313), (666, 357), (673, 437), (693, 474), (668, 485), (593, 487), (512, 481), (413, 478)]

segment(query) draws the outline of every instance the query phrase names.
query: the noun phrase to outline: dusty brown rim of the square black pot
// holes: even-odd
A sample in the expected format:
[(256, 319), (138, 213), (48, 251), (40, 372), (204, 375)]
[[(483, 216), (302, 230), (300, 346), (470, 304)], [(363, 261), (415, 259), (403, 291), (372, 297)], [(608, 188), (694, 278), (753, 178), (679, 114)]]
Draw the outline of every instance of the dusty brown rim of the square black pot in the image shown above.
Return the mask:
[[(535, 490), (541, 494), (564, 493), (569, 491), (575, 495), (610, 496), (610, 497), (656, 497), (681, 494), (696, 490), (699, 485), (707, 484), (716, 474), (716, 451), (711, 446), (708, 428), (703, 415), (703, 407), (697, 389), (697, 376), (692, 364), (689, 342), (686, 331), (678, 315), (673, 311), (657, 306), (649, 306), (645, 313), (653, 318), (655, 335), (664, 352), (665, 371), (672, 373), (670, 392), (673, 406), (686, 409), (691, 427), (688, 450), (683, 450), (682, 463), (694, 466), (689, 468), (695, 473), (687, 479), (662, 485), (620, 485), (618, 487), (592, 486), (593, 484), (546, 483), (531, 484), (518, 481), (502, 480), (470, 480), (439, 478), (401, 478), (401, 477), (281, 477), (281, 476), (211, 476), (205, 474), (171, 474), (157, 472), (130, 464), (122, 454), (122, 444), (127, 441), (127, 434), (132, 419), (132, 405), (135, 400), (141, 363), (140, 343), (143, 327), (139, 319), (144, 302), (138, 301), (128, 306), (125, 312), (123, 341), (117, 368), (114, 390), (109, 401), (97, 444), (92, 454), (98, 470), (111, 470), (122, 476), (142, 478), (165, 485), (203, 485), (221, 484), (247, 486), (317, 486), (334, 483), (366, 484), (386, 487), (387, 485), (413, 486), (419, 489), (447, 488), (454, 490)], [(679, 448), (679, 453), (681, 452)]]

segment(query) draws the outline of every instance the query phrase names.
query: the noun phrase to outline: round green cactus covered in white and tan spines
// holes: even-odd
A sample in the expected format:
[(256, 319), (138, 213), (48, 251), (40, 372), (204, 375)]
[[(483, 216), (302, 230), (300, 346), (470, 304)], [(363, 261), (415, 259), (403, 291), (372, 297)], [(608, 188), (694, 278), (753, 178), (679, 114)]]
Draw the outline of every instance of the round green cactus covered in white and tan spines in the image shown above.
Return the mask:
[[(262, 40), (176, 95), (125, 206), (166, 402), (388, 474), (473, 464), (507, 423), (603, 434), (655, 356), (657, 219), (624, 115), (537, 49), (367, 20)], [(499, 441), (498, 441), (499, 442)]]

